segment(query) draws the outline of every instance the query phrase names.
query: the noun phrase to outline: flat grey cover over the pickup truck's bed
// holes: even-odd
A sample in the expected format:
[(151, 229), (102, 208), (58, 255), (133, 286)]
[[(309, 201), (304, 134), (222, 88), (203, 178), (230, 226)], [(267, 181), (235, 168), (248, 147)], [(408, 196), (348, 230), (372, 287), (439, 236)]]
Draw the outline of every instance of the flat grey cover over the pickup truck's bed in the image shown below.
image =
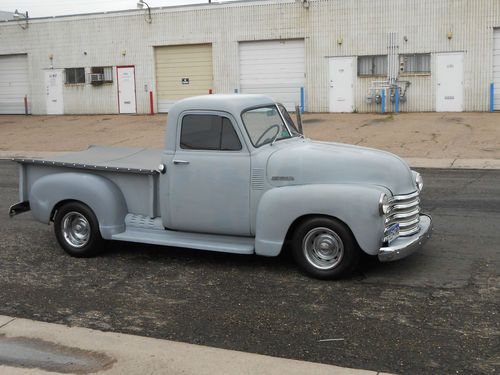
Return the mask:
[(84, 151), (70, 152), (48, 159), (16, 158), (26, 164), (57, 167), (155, 174), (162, 150), (128, 147), (90, 146)]

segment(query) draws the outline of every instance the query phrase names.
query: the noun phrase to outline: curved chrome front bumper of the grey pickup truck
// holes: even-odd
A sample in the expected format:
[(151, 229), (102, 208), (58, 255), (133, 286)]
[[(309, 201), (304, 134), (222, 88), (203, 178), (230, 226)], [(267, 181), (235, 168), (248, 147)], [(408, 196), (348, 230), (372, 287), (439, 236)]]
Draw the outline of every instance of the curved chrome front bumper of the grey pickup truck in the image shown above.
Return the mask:
[(409, 237), (399, 237), (391, 242), (390, 246), (381, 247), (378, 259), (381, 262), (390, 262), (406, 258), (413, 254), (431, 237), (432, 218), (429, 215), (420, 215), (420, 231)]

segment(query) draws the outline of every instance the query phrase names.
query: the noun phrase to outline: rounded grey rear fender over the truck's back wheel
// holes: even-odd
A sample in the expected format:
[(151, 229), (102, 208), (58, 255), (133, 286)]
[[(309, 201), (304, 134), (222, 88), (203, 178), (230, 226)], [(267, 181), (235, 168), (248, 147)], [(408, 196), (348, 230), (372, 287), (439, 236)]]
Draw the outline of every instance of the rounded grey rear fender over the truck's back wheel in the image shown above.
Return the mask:
[(65, 200), (89, 206), (97, 216), (103, 238), (110, 239), (113, 234), (125, 230), (125, 198), (107, 178), (89, 173), (56, 173), (41, 177), (31, 187), (31, 212), (42, 223), (49, 223), (54, 207)]

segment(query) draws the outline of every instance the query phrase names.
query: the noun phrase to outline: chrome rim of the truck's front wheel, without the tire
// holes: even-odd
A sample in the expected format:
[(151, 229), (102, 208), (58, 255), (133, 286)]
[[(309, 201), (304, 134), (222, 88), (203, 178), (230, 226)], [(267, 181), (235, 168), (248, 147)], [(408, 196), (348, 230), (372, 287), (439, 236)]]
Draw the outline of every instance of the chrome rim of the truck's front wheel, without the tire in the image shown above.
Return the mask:
[(321, 270), (337, 267), (344, 257), (342, 239), (333, 230), (324, 227), (307, 232), (302, 241), (302, 250), (307, 261)]

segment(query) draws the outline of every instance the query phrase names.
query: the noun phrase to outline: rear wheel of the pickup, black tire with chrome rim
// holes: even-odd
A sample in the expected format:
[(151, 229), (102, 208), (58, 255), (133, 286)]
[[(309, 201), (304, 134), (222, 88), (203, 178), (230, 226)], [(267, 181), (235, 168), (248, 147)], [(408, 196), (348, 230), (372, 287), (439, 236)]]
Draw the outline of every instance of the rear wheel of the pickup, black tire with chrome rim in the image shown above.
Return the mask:
[(57, 209), (54, 232), (59, 245), (73, 257), (94, 256), (104, 243), (94, 212), (80, 202), (65, 203)]

